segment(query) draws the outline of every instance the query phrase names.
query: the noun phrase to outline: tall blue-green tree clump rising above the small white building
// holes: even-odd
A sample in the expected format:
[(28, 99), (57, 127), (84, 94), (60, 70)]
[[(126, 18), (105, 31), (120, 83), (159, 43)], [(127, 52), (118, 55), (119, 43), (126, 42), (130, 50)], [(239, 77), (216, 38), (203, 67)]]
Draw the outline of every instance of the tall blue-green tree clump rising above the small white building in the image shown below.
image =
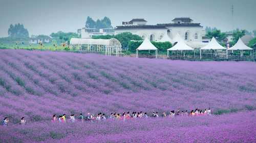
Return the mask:
[(87, 17), (86, 20), (86, 28), (96, 28), (96, 29), (103, 29), (103, 28), (112, 28), (111, 20), (108, 17), (104, 17), (103, 19), (97, 19), (96, 22), (90, 17)]

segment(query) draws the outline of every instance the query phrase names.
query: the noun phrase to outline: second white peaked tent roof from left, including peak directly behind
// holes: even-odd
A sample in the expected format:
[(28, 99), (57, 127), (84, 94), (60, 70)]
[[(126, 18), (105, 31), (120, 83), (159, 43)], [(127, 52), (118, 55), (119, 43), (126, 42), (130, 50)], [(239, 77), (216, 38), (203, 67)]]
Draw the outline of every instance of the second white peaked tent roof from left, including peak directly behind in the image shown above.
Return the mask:
[(174, 37), (174, 42), (177, 42), (173, 47), (167, 49), (167, 51), (185, 51), (185, 50), (194, 50), (192, 47), (188, 46), (185, 41), (180, 37), (180, 34), (177, 33), (177, 35)]

